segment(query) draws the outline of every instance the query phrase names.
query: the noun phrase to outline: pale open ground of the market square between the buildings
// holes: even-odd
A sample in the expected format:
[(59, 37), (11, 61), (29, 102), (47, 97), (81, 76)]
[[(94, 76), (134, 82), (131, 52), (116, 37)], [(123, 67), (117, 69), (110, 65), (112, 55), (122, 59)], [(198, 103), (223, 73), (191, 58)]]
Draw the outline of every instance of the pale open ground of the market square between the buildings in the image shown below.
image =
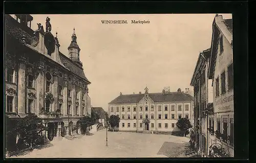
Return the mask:
[(99, 158), (99, 157), (184, 157), (188, 137), (108, 132), (109, 146), (105, 146), (106, 130), (72, 141), (62, 138), (53, 146), (11, 158)]

